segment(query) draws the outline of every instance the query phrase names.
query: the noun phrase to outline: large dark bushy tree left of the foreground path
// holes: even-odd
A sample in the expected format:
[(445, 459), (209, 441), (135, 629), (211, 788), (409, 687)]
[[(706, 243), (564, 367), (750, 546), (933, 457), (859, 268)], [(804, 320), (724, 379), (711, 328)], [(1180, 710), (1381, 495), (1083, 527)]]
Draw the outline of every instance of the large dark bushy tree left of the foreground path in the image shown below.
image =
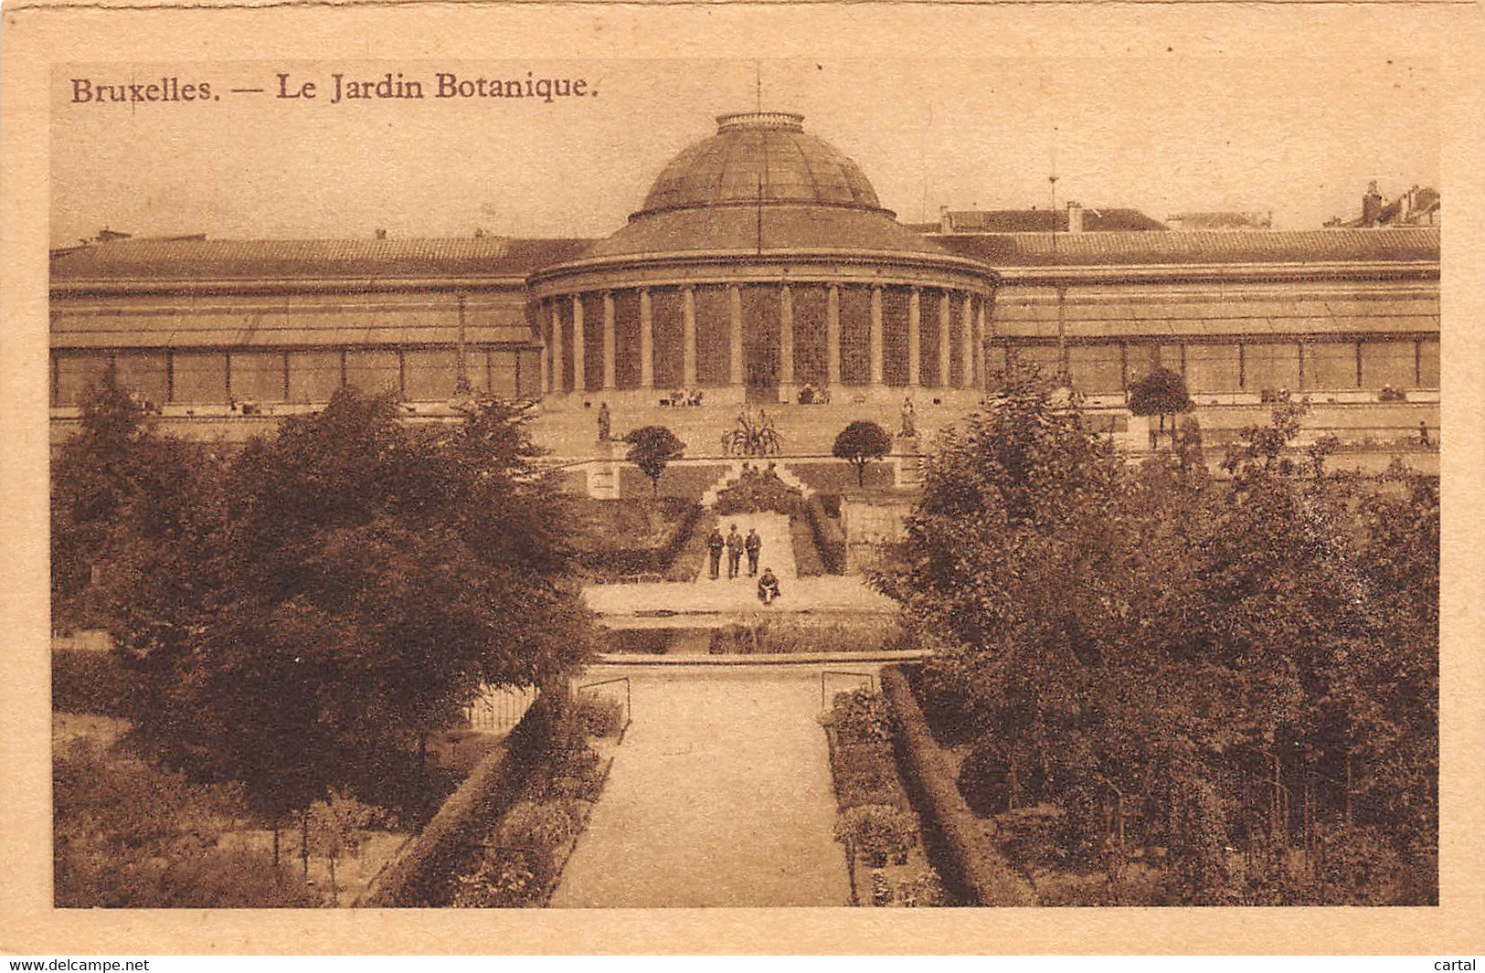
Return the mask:
[(330, 786), (423, 811), (431, 732), (591, 646), (538, 455), (517, 407), (414, 428), (349, 389), (251, 441), (114, 585), (141, 734), (275, 827)]

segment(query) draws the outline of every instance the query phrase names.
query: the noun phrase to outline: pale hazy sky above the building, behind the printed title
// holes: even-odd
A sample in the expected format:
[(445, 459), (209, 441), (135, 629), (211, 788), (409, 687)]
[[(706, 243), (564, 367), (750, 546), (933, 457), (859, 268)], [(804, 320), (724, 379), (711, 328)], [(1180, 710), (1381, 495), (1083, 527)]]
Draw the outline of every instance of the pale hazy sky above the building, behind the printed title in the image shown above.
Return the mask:
[[(1273, 211), (1276, 229), (1439, 183), (1437, 65), (1326, 59), (336, 61), (68, 65), (52, 86), (53, 245), (99, 229), (212, 238), (604, 236), (714, 116), (805, 114), (904, 221), (953, 209)], [(336, 73), (425, 82), (343, 100)], [(459, 79), (590, 94), (434, 98)], [(279, 98), (306, 82), (318, 98)], [(77, 85), (209, 85), (215, 100), (76, 102)], [(261, 94), (232, 94), (261, 88)], [(163, 89), (160, 89), (163, 91)]]

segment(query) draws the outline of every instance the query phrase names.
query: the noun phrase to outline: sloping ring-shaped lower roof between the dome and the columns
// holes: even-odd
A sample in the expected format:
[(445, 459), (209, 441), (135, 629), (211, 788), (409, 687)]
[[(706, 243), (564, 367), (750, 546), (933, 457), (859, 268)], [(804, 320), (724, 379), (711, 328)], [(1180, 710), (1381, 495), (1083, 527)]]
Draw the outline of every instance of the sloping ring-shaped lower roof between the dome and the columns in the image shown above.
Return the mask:
[(621, 257), (676, 251), (875, 250), (944, 256), (921, 233), (884, 211), (846, 206), (726, 205), (643, 214), (585, 257)]

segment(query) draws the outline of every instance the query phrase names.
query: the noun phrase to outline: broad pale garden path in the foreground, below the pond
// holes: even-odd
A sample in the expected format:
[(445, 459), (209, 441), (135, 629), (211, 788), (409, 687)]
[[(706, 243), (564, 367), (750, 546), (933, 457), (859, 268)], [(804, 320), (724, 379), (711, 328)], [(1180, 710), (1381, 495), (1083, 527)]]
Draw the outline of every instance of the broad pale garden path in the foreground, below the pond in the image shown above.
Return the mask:
[(818, 667), (594, 667), (634, 722), (552, 906), (842, 906)]

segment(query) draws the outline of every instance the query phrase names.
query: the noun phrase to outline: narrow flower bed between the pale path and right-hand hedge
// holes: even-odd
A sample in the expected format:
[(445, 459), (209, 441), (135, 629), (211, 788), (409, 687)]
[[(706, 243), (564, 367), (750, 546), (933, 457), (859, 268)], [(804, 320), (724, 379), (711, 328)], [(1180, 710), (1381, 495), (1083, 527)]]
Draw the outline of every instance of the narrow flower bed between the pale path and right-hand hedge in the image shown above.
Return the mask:
[(852, 903), (950, 905), (897, 775), (887, 701), (864, 689), (841, 692), (821, 722), (839, 808), (835, 835), (846, 847)]

